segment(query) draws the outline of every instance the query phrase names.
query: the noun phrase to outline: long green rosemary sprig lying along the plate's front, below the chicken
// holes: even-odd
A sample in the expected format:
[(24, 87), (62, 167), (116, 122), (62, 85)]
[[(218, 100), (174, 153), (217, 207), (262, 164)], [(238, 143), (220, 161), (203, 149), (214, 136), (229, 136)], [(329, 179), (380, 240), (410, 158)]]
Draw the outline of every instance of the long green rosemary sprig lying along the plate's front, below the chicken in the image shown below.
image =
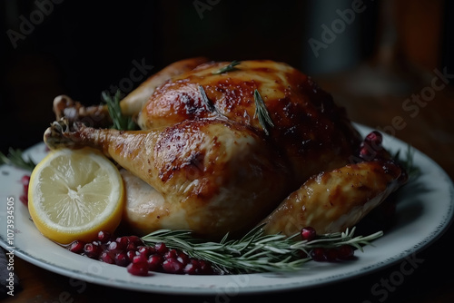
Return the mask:
[(354, 231), (346, 230), (321, 235), (311, 241), (301, 240), (297, 233), (291, 237), (282, 234), (265, 235), (262, 226), (252, 229), (242, 239), (228, 239), (228, 234), (219, 242), (192, 238), (191, 230), (156, 230), (143, 237), (148, 245), (163, 242), (172, 249), (180, 249), (192, 258), (210, 261), (224, 274), (294, 271), (311, 260), (301, 258), (301, 251), (309, 256), (313, 248), (336, 248), (349, 244), (362, 251), (362, 246), (380, 238), (382, 232), (367, 237), (354, 237)]

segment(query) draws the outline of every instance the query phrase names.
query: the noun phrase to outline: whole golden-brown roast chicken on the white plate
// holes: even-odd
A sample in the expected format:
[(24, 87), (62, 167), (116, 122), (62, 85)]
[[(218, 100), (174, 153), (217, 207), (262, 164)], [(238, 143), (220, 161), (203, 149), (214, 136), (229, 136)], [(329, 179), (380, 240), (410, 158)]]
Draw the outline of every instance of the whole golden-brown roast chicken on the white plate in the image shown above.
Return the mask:
[(189, 229), (216, 239), (257, 224), (286, 235), (341, 231), (405, 183), (381, 147), (360, 156), (363, 138), (311, 77), (273, 61), (229, 64), (193, 58), (151, 76), (120, 103), (137, 131), (106, 128), (103, 104), (59, 96), (44, 142), (115, 161), (123, 222), (142, 235)]

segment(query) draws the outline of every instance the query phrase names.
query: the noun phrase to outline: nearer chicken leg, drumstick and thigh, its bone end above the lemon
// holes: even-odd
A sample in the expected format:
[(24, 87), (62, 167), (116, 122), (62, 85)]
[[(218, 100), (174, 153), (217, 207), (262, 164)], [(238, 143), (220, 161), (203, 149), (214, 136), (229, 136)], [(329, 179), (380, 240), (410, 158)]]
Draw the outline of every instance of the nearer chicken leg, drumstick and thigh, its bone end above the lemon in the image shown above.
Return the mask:
[[(103, 151), (163, 196), (161, 201), (151, 193), (152, 203), (163, 203), (161, 210), (147, 207), (149, 212), (143, 213), (143, 208), (127, 206), (126, 218), (141, 234), (169, 226), (210, 238), (240, 234), (290, 191), (290, 172), (279, 155), (250, 128), (225, 119), (134, 132), (80, 125), (61, 132), (58, 140), (52, 132), (47, 135), (52, 138), (45, 141), (54, 148), (91, 146)], [(127, 192), (132, 190), (128, 184)], [(143, 216), (150, 219), (146, 224)]]

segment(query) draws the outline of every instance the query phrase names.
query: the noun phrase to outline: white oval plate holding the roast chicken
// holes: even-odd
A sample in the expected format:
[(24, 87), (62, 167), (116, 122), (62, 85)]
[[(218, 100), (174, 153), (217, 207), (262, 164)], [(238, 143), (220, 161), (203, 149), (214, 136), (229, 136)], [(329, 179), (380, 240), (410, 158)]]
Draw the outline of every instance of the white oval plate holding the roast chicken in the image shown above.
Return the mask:
[[(370, 128), (357, 125), (363, 134)], [(407, 143), (385, 135), (384, 145), (391, 151), (407, 151)], [(44, 144), (27, 151), (35, 161), (44, 155)], [(400, 191), (397, 222), (383, 237), (368, 246), (358, 259), (342, 263), (308, 262), (306, 268), (292, 274), (250, 274), (232, 276), (185, 276), (156, 273), (134, 277), (126, 269), (71, 253), (45, 239), (29, 220), (28, 210), (19, 201), (20, 179), (27, 171), (0, 167), (0, 244), (8, 249), (6, 205), (15, 200), (15, 256), (38, 267), (73, 279), (81, 279), (114, 288), (172, 293), (219, 295), (256, 293), (293, 288), (310, 288), (350, 279), (383, 269), (427, 247), (449, 226), (453, 216), (454, 188), (448, 175), (437, 163), (421, 152), (414, 153), (415, 165), (422, 171), (416, 184)], [(11, 199), (10, 199), (11, 200)]]

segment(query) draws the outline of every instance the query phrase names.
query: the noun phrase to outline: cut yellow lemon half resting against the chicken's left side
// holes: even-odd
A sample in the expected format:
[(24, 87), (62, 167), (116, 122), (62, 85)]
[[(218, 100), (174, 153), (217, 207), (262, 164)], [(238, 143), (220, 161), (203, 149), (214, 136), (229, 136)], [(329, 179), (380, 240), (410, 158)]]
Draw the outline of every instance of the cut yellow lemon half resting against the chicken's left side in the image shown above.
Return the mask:
[(50, 152), (35, 167), (28, 210), (48, 239), (68, 244), (114, 232), (123, 214), (123, 179), (100, 152), (90, 148)]

